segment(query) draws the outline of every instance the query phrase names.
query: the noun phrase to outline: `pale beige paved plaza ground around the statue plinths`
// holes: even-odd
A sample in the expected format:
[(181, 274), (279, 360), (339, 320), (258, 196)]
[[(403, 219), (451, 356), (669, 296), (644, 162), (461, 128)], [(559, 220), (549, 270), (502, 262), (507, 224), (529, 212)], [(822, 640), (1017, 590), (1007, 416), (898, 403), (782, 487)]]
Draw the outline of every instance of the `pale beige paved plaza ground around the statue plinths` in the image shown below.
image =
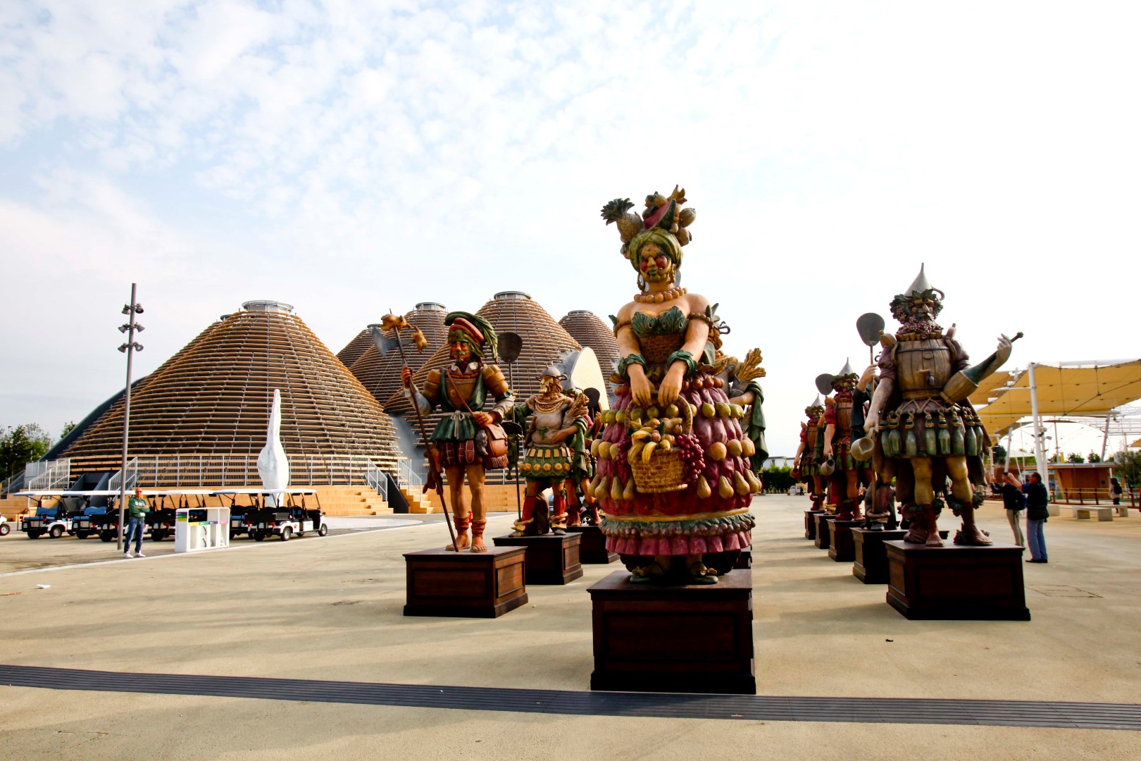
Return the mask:
[[(1051, 518), (1030, 622), (912, 622), (803, 539), (806, 497), (754, 502), (759, 694), (1141, 703), (1141, 518)], [(941, 525), (953, 528), (945, 513)], [(423, 517), (418, 516), (418, 519)], [(512, 516), (492, 518), (488, 536)], [(588, 690), (586, 588), (496, 620), (404, 617), (402, 553), (435, 520), (171, 554), (0, 540), (0, 663), (108, 672)], [(998, 503), (980, 523), (1010, 540)], [(372, 526), (382, 529), (372, 531)], [(89, 565), (89, 564), (95, 565)], [(84, 565), (88, 564), (88, 565)], [(64, 568), (52, 569), (58, 566)], [(49, 589), (37, 589), (50, 584)], [(647, 632), (659, 635), (661, 632)], [(512, 713), (0, 687), (2, 759), (1138, 759), (1141, 732)]]

